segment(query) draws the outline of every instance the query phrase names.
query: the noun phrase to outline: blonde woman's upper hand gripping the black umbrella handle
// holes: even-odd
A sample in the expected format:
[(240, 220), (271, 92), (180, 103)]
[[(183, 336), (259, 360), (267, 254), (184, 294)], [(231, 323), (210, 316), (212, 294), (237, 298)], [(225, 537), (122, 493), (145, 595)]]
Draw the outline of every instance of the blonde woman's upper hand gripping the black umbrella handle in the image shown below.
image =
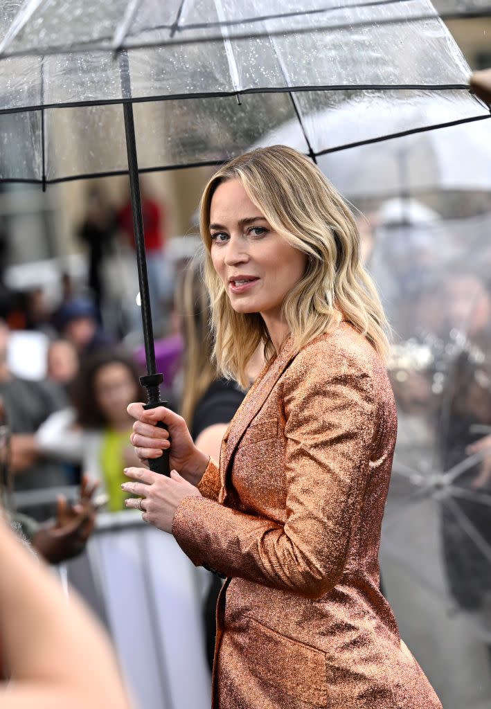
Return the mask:
[[(209, 457), (194, 445), (184, 418), (163, 406), (145, 411), (142, 403), (131, 403), (128, 413), (136, 418), (131, 442), (138, 458), (142, 462), (149, 458), (158, 458), (162, 455), (162, 450), (170, 447), (171, 469), (180, 470), (184, 479), (192, 485), (197, 485), (202, 479)], [(159, 421), (167, 425), (168, 433), (157, 428)]]

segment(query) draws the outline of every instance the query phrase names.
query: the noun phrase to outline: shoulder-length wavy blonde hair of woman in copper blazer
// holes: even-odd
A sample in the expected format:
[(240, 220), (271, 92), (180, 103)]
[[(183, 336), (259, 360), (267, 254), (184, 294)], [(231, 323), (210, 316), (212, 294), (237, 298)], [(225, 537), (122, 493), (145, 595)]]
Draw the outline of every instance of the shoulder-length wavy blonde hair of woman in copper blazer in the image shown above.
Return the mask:
[(245, 367), (255, 350), (263, 343), (266, 361), (275, 354), (263, 318), (233, 310), (211, 260), (211, 199), (219, 184), (231, 179), (240, 179), (271, 228), (307, 255), (304, 276), (282, 306), (294, 347), (329, 333), (342, 316), (387, 361), (390, 328), (360, 262), (360, 237), (351, 211), (313, 162), (292, 148), (275, 145), (224, 164), (209, 180), (200, 203), (204, 277), (219, 372), (247, 386)]

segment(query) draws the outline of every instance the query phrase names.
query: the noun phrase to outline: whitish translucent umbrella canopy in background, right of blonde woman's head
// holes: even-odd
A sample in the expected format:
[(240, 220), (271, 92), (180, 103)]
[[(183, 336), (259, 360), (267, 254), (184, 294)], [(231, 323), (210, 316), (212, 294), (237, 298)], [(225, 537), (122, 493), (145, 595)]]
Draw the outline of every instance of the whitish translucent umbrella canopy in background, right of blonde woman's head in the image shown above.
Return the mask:
[[(446, 110), (438, 104), (414, 101), (407, 108), (416, 121), (443, 124)], [(402, 128), (403, 117), (387, 104), (374, 100), (363, 111), (363, 131), (376, 135), (380, 117), (392, 134)], [(488, 116), (491, 118), (491, 115)], [(428, 191), (491, 190), (491, 121), (472, 121), (439, 130), (399, 135), (390, 140), (359, 145), (359, 125), (353, 106), (321, 111), (305, 118), (312, 145), (328, 143), (317, 164), (349, 199), (409, 196)], [(340, 146), (341, 141), (344, 143)], [(259, 145), (285, 143), (302, 150), (294, 121), (260, 140)]]

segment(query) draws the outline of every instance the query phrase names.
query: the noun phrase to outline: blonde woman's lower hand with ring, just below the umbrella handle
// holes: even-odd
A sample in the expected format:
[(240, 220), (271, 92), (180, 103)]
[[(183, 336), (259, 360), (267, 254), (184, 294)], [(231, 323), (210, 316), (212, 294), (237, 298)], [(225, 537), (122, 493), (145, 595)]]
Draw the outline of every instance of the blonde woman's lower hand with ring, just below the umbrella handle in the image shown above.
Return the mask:
[(123, 483), (121, 487), (139, 496), (139, 499), (125, 500), (126, 507), (141, 510), (143, 520), (162, 532), (172, 534), (175, 510), (185, 497), (202, 496), (194, 485), (184, 480), (175, 470), (171, 471), (170, 478), (146, 468), (126, 468), (124, 472), (136, 482)]

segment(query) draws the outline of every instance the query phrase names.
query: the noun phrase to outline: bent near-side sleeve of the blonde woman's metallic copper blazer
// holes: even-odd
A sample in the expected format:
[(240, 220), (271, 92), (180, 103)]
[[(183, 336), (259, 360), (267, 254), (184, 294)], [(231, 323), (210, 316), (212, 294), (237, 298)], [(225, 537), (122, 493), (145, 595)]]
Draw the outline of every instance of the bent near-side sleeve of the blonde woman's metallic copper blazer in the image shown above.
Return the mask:
[(309, 357), (308, 350), (297, 355), (281, 384), (285, 525), (189, 497), (177, 508), (172, 531), (196, 565), (319, 598), (343, 574), (377, 404), (370, 375), (346, 354), (326, 364), (325, 356), (319, 361), (319, 353)]

